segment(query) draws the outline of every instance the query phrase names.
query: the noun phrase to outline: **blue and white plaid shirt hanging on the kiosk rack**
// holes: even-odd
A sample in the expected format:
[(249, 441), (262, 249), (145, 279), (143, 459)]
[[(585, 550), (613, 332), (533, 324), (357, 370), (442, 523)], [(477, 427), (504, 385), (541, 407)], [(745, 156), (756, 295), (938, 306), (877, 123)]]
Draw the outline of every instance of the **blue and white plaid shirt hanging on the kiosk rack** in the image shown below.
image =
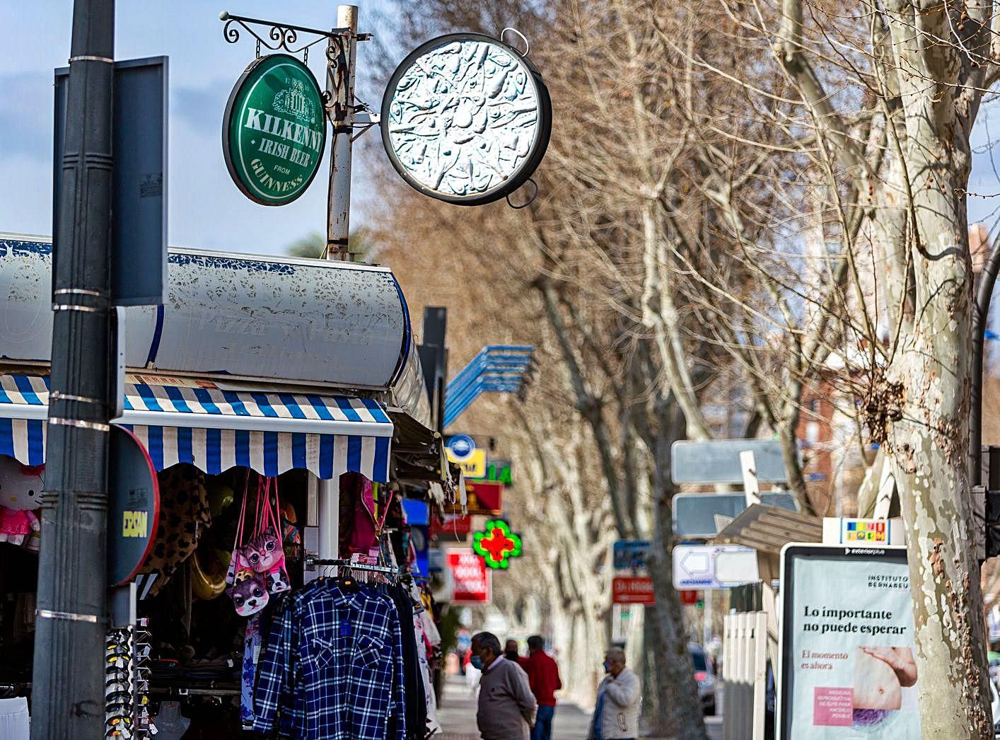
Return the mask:
[(254, 729), (324, 740), (381, 740), (391, 730), (404, 740), (401, 625), (391, 601), (333, 581), (286, 601), (261, 655)]

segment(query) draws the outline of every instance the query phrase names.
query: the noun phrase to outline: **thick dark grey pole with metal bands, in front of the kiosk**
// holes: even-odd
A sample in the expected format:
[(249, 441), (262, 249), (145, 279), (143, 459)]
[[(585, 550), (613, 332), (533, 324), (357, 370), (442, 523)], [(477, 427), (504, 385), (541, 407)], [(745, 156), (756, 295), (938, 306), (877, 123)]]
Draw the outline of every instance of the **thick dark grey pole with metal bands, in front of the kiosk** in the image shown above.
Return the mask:
[(35, 628), (36, 740), (104, 737), (114, 0), (76, 0), (54, 248)]

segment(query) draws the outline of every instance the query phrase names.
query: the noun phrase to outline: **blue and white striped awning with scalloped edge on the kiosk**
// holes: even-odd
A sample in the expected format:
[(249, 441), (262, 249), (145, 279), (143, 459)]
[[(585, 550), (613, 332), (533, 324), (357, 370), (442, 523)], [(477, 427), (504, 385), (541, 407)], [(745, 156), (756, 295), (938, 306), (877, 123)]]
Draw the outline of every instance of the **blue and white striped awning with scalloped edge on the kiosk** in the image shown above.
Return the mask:
[[(45, 461), (49, 379), (0, 376), (0, 454)], [(183, 383), (183, 384), (182, 384)], [(393, 425), (372, 399), (229, 391), (178, 380), (125, 384), (115, 423), (146, 446), (157, 470), (180, 462), (206, 473), (241, 466), (267, 476), (305, 468), (320, 478), (347, 471), (386, 482)]]

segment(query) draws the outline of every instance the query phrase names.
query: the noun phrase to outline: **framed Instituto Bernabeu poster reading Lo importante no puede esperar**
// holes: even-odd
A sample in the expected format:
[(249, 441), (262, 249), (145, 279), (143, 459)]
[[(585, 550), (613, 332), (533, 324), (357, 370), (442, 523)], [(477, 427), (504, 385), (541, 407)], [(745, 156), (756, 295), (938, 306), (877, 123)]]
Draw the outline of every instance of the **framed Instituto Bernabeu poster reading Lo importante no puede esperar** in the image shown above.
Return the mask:
[(781, 569), (781, 737), (920, 737), (906, 548), (793, 544)]

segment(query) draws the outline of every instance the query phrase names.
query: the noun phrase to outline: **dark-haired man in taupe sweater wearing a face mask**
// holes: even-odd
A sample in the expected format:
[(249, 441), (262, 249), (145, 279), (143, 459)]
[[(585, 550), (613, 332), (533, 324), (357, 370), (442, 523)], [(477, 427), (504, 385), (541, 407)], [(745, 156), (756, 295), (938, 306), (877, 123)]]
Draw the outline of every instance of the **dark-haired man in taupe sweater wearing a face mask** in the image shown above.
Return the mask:
[(470, 662), (483, 672), (476, 712), (483, 740), (528, 740), (537, 704), (527, 674), (503, 656), (500, 640), (492, 632), (472, 637)]

